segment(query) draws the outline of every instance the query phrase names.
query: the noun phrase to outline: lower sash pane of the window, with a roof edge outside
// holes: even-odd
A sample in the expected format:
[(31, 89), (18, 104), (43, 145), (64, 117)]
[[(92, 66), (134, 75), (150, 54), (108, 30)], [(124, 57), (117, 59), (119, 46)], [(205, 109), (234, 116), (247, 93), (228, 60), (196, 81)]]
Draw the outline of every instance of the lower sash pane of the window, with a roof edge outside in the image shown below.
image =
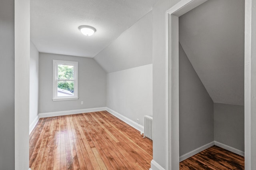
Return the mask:
[(58, 96), (74, 96), (74, 81), (58, 81)]

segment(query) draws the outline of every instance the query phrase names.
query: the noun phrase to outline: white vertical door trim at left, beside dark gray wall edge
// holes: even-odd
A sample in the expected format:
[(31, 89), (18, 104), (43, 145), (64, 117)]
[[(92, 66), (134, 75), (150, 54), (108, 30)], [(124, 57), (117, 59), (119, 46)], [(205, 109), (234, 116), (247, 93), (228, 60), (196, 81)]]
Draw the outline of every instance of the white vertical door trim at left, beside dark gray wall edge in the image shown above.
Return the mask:
[(30, 0), (14, 0), (15, 170), (29, 168)]

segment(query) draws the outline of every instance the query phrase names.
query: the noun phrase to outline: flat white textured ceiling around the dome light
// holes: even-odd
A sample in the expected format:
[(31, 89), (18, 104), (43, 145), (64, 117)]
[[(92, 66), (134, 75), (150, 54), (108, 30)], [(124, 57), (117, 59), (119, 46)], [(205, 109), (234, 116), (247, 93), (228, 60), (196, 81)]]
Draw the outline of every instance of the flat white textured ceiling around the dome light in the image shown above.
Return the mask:
[[(38, 51), (94, 57), (158, 0), (31, 0), (30, 34)], [(96, 28), (83, 36), (80, 25)]]

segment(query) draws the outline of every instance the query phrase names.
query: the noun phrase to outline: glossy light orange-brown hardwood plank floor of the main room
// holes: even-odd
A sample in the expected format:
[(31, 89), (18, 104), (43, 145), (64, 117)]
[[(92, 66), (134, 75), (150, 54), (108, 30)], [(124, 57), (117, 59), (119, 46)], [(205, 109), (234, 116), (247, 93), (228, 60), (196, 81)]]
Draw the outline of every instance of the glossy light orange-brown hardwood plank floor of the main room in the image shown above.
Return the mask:
[(32, 170), (146, 170), (152, 141), (100, 111), (39, 119), (29, 153)]

